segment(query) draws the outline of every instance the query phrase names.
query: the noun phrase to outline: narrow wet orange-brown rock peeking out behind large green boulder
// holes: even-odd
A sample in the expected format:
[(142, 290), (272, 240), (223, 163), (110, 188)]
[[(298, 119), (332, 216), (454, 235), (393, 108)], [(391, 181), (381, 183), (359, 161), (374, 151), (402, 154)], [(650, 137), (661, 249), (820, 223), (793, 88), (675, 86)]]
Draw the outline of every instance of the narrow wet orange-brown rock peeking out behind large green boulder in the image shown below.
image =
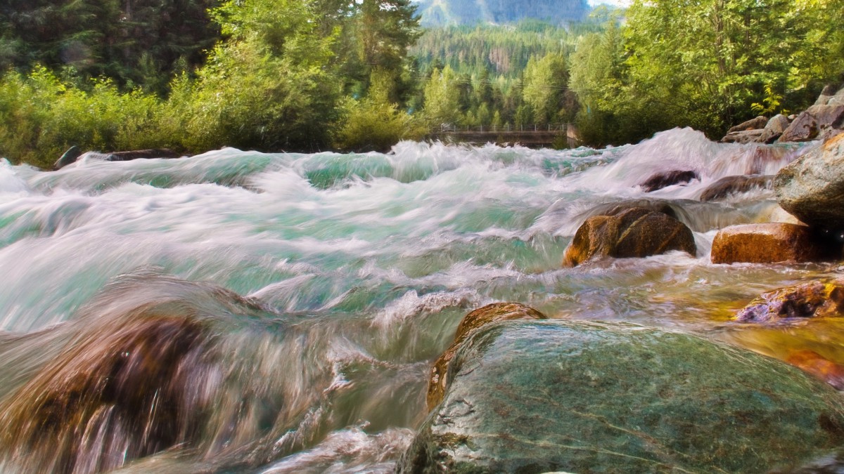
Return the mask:
[(470, 337), (474, 331), (494, 321), (500, 320), (545, 320), (548, 316), (534, 310), (530, 306), (519, 303), (493, 303), (473, 310), (463, 316), (463, 320), (457, 325), (457, 332), (454, 335), (454, 342), (436, 359), (434, 367), (430, 369), (430, 380), (428, 381), (428, 409), (436, 407), (446, 392), (448, 385), (448, 364), (451, 363), (457, 348)]

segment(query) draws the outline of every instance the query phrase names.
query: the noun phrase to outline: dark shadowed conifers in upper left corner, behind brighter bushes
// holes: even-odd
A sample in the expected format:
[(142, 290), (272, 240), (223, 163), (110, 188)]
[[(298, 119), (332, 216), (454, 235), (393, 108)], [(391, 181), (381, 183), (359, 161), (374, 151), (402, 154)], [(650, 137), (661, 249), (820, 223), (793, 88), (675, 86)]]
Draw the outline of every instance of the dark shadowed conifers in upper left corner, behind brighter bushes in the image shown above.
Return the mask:
[[(216, 0), (6, 0), (0, 4), (0, 67), (40, 63), (124, 90), (165, 94), (179, 67), (198, 67), (219, 30)], [(84, 83), (84, 80), (82, 81)]]

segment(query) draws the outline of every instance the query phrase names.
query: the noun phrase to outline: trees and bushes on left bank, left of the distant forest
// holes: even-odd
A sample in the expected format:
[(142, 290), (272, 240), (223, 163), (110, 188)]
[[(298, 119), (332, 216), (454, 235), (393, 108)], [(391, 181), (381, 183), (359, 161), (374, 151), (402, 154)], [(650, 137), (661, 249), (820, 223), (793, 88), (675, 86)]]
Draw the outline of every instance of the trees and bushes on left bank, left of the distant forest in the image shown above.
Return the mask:
[[(215, 23), (209, 24), (204, 7), (201, 14), (197, 7), (212, 5)], [(0, 83), (0, 154), (49, 167), (71, 145), (103, 152), (167, 147), (198, 153), (223, 146), (312, 151), (330, 143), (333, 125), (344, 123), (341, 113), (354, 119), (351, 124), (375, 120), (368, 116), (386, 120), (390, 139), (411, 136), (415, 122), (399, 111), (397, 100), (412, 89), (405, 57), (417, 35), (413, 14), (407, 0), (2, 5), (0, 23), (20, 28), (0, 40), (0, 61), (19, 68)], [(149, 21), (156, 15), (161, 24)], [(45, 33), (54, 21), (55, 30)], [(41, 28), (24, 28), (33, 22)], [(171, 35), (166, 30), (174, 24), (184, 28)], [(203, 54), (202, 67), (180, 43), (199, 30), (223, 35)], [(85, 55), (62, 67), (57, 43), (70, 37)], [(122, 62), (124, 53), (131, 61)], [(40, 58), (49, 61), (33, 67)], [(338, 102), (346, 89), (365, 89), (373, 68), (392, 78), (395, 99)], [(387, 146), (387, 138), (378, 140), (377, 146)]]

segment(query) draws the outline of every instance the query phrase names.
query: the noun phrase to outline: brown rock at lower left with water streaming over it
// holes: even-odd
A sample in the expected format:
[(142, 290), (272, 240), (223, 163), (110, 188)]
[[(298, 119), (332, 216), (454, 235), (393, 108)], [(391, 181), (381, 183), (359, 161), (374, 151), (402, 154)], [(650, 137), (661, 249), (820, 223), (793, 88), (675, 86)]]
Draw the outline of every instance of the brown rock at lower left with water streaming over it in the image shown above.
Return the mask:
[(0, 402), (7, 460), (21, 471), (111, 471), (198, 439), (203, 401), (191, 366), (210, 361), (208, 328), (137, 317), (95, 328)]

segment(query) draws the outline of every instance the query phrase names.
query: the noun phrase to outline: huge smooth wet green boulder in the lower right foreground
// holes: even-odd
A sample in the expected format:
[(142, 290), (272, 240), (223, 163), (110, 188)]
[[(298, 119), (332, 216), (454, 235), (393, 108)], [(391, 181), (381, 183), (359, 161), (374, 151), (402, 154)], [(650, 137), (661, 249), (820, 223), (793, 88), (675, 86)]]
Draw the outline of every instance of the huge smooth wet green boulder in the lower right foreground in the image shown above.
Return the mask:
[(790, 471), (844, 442), (841, 395), (772, 358), (623, 323), (475, 332), (397, 471)]

